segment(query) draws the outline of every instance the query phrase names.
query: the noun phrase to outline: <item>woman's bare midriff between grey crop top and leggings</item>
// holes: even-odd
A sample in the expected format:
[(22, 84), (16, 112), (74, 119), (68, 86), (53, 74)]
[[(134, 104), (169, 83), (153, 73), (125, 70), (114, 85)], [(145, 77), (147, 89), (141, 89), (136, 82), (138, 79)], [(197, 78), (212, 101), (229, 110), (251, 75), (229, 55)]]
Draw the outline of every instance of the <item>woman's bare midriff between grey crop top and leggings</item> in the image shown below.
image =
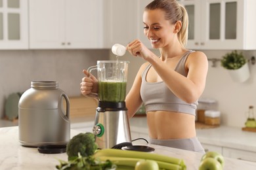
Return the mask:
[(195, 116), (181, 112), (147, 112), (149, 136), (152, 139), (186, 139), (196, 137)]

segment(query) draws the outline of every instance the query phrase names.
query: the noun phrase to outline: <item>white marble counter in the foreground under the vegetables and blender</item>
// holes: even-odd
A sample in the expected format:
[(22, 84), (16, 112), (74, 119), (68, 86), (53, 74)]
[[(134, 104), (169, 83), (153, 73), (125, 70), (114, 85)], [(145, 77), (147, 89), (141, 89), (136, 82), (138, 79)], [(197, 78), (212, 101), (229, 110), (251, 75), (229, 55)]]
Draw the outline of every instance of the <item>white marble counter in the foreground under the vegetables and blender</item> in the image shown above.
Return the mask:
[[(71, 136), (80, 133), (80, 131), (71, 130)], [(0, 128), (0, 169), (54, 169), (58, 165), (58, 159), (67, 160), (66, 153), (63, 154), (40, 154), (37, 148), (24, 147), (18, 142), (18, 126)], [(137, 144), (144, 144), (140, 141)], [(165, 146), (148, 144), (155, 148), (155, 153), (163, 154), (175, 158), (181, 158), (186, 163), (187, 169), (198, 169), (201, 153), (179, 150)], [(228, 169), (255, 169), (256, 163), (232, 158), (225, 159), (225, 170)]]

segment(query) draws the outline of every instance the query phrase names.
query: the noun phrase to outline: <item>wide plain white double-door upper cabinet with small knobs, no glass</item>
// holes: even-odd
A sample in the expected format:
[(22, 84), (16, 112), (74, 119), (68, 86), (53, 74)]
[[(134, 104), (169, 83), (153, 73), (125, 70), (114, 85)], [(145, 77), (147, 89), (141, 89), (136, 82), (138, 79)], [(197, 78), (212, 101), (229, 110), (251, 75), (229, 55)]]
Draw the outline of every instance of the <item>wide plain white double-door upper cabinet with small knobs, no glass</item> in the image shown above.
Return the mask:
[(102, 0), (30, 0), (30, 48), (101, 48)]

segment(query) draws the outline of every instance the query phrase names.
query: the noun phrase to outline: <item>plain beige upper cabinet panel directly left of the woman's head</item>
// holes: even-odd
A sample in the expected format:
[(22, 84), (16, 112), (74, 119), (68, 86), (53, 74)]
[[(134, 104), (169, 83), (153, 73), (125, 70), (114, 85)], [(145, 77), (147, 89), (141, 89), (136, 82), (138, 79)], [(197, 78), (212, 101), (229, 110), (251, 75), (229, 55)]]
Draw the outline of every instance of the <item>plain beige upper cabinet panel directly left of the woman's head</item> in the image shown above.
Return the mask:
[(137, 0), (104, 1), (104, 37), (106, 48), (119, 43), (126, 46), (137, 37)]

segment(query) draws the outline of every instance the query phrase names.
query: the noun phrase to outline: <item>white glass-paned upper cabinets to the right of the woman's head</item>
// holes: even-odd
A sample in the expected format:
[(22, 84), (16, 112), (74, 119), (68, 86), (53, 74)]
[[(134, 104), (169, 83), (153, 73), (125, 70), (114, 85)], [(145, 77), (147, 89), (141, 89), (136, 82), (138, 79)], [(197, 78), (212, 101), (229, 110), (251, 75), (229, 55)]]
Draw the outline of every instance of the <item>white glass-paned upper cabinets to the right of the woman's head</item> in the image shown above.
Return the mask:
[(181, 0), (191, 49), (255, 50), (255, 0)]

